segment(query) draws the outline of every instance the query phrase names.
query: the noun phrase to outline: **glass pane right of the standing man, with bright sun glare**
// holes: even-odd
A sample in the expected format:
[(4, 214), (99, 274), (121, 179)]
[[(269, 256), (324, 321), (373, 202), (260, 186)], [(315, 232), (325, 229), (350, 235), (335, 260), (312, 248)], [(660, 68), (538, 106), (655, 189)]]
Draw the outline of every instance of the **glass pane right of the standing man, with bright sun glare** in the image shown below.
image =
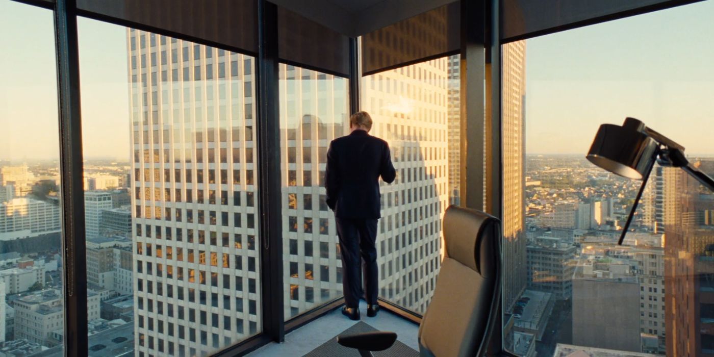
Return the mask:
[[(389, 143), (396, 181), (382, 183), (379, 296), (424, 313), (441, 266), (441, 218), (458, 203), (458, 56), (366, 76), (362, 108)], [(453, 169), (453, 170), (452, 170)]]

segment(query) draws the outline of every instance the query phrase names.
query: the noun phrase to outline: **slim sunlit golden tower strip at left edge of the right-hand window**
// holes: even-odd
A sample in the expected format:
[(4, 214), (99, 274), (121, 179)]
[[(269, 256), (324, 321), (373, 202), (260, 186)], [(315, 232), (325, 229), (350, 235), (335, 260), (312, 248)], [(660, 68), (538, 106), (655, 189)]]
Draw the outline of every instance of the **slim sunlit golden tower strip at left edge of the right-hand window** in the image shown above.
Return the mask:
[(503, 304), (513, 307), (528, 283), (526, 266), (526, 41), (503, 47)]

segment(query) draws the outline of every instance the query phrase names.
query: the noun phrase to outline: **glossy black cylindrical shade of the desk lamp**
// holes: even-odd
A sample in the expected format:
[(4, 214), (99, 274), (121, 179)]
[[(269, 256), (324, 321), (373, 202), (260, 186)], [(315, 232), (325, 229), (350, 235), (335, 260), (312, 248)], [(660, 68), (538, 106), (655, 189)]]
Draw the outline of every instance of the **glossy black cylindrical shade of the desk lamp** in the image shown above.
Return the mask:
[(586, 157), (613, 174), (641, 180), (652, 169), (659, 148), (644, 129), (644, 124), (633, 118), (625, 119), (623, 126), (600, 125)]

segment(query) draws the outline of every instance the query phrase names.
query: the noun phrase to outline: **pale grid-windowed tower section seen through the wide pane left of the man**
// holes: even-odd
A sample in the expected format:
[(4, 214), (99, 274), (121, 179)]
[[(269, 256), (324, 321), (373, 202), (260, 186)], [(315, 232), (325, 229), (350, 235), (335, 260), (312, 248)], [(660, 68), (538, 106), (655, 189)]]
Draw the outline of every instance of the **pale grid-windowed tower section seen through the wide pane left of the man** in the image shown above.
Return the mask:
[(253, 58), (127, 39), (134, 349), (206, 355), (261, 329)]

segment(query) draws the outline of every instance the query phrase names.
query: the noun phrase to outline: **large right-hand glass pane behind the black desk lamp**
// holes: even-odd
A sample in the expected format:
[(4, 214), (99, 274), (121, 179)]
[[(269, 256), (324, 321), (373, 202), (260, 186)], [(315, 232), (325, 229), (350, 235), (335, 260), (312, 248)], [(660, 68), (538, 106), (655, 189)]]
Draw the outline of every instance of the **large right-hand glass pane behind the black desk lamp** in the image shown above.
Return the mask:
[(632, 116), (714, 174), (714, 48), (700, 46), (713, 12), (705, 1), (503, 46), (503, 328), (518, 355), (714, 353), (714, 193), (655, 166), (618, 246), (642, 181), (585, 159), (600, 124)]

